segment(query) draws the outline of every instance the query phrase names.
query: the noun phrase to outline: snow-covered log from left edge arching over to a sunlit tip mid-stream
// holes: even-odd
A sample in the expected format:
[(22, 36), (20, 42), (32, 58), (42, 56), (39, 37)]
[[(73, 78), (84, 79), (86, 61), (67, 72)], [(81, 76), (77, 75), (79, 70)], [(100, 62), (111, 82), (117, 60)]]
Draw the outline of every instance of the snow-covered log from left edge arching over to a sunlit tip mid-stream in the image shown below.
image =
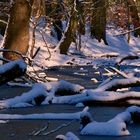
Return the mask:
[[(52, 103), (56, 93), (69, 95), (70, 93), (81, 93), (84, 87), (71, 84), (66, 81), (50, 82), (46, 84), (34, 84), (28, 92), (14, 98), (1, 100), (0, 108), (29, 107), (34, 105)], [(69, 95), (70, 96), (70, 95)]]

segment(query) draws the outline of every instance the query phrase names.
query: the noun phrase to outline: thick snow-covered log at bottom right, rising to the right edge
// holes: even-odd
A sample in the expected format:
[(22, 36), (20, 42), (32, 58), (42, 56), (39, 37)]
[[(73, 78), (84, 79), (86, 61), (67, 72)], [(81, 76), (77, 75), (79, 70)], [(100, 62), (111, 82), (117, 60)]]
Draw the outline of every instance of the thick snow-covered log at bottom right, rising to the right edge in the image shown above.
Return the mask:
[[(130, 135), (126, 123), (134, 122), (133, 113), (139, 112), (140, 107), (131, 106), (124, 112), (119, 113), (113, 119), (107, 122), (97, 122), (93, 120), (88, 123), (82, 130), (81, 135), (104, 135), (104, 136), (125, 136)], [(140, 118), (139, 118), (140, 119)]]

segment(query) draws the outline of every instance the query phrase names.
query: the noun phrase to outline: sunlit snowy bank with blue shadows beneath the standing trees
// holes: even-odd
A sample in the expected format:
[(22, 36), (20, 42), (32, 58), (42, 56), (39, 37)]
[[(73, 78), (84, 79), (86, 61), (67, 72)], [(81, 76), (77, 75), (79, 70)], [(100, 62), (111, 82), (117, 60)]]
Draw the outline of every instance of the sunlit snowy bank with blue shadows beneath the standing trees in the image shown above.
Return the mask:
[[(48, 42), (48, 47), (51, 52), (51, 58), (45, 60), (49, 56), (49, 53), (44, 42), (40, 40), (40, 35), (37, 33), (36, 47), (41, 46), (41, 50), (35, 58), (35, 63), (42, 67), (68, 65), (69, 62), (73, 65), (108, 65), (116, 63), (117, 57), (127, 55), (139, 56), (140, 38), (135, 38), (131, 35), (130, 43), (128, 43), (126, 36), (116, 36), (118, 34), (120, 34), (119, 30), (107, 30), (107, 41), (109, 45), (105, 45), (103, 41), (99, 43), (96, 39), (91, 39), (88, 34), (82, 36), (81, 52), (77, 52), (75, 50), (75, 44), (72, 43), (69, 48), (69, 55), (60, 55), (58, 47), (54, 48), (54, 46), (57, 46), (57, 41), (47, 36), (46, 41)], [(139, 59), (129, 61), (128, 63), (137, 66), (140, 65)]]

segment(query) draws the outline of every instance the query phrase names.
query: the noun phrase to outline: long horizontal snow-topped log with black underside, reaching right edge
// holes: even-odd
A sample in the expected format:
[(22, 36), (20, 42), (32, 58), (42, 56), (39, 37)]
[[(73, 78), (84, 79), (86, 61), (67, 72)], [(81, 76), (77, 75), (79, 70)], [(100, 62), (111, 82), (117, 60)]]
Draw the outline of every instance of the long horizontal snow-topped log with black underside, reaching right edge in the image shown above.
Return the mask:
[(137, 105), (140, 105), (139, 92), (96, 92), (94, 90), (85, 90), (82, 94), (73, 96), (53, 97), (52, 103), (59, 104), (77, 104), (83, 102), (86, 105), (133, 105), (134, 102), (129, 100), (136, 100)]

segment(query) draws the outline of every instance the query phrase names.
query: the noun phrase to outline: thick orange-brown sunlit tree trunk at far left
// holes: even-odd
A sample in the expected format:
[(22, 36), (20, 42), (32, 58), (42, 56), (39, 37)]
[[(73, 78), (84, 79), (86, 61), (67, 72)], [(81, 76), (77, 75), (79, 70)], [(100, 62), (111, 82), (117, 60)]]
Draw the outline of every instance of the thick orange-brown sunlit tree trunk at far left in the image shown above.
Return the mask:
[[(5, 34), (3, 47), (26, 54), (29, 48), (29, 20), (33, 0), (14, 0), (10, 9), (10, 19)], [(9, 60), (20, 59), (11, 52), (4, 52), (4, 58)]]

